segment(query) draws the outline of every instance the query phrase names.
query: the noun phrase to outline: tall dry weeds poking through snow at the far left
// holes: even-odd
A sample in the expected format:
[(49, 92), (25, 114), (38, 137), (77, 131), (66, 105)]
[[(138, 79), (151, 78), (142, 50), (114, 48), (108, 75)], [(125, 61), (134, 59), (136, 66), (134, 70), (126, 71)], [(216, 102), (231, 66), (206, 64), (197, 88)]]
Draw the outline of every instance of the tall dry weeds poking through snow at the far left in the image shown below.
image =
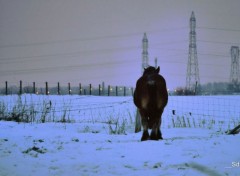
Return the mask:
[[(63, 110), (59, 112), (51, 101), (27, 102), (26, 97), (19, 95), (13, 106), (6, 102), (0, 102), (0, 120), (14, 122), (61, 122), (71, 123), (70, 104), (64, 105)], [(58, 114), (57, 114), (58, 113)]]

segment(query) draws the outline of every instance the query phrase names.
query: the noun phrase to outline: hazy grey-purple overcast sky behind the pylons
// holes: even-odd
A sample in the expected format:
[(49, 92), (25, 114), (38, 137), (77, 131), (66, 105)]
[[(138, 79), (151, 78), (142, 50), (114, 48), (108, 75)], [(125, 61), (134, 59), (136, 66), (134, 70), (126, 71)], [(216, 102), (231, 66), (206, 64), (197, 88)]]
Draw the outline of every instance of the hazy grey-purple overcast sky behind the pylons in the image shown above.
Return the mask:
[(197, 20), (200, 82), (229, 81), (240, 45), (239, 0), (0, 0), (0, 84), (135, 86), (141, 41), (168, 88), (185, 86), (189, 19)]

